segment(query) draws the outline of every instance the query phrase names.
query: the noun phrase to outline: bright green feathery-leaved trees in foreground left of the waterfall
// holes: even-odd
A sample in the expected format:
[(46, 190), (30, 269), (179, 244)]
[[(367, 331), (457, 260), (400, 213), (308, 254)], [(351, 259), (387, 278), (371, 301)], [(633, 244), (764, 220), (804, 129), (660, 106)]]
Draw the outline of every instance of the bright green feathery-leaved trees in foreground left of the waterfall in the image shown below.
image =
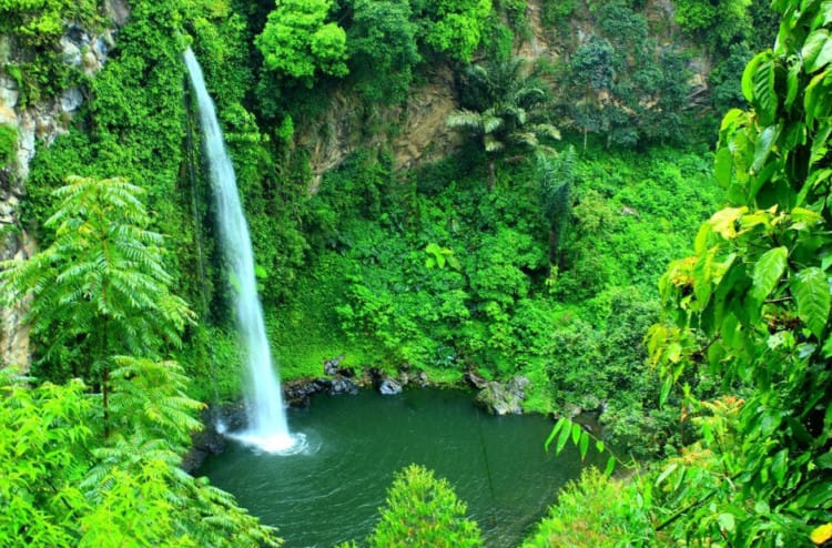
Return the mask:
[[(191, 312), (169, 290), (163, 237), (149, 232), (140, 189), (70, 177), (47, 223), (54, 242), (0, 271), (3, 306), (31, 298), (58, 363), (95, 384), (0, 371), (3, 546), (277, 546), (233, 497), (185, 474), (202, 404), (160, 361)], [(48, 353), (49, 354), (49, 353)], [(60, 377), (61, 374), (54, 374)]]

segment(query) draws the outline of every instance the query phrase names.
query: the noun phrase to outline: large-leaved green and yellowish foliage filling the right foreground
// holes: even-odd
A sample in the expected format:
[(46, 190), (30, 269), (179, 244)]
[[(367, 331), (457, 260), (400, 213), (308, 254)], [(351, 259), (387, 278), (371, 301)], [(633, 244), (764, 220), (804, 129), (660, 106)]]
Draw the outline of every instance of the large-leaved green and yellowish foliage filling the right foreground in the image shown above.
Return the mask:
[(832, 536), (832, 7), (773, 7), (774, 48), (742, 79), (752, 110), (720, 128), (728, 207), (702, 225), (696, 254), (670, 265), (660, 290), (672, 323), (649, 339), (664, 397), (702, 375), (744, 396), (721, 414), (689, 400), (707, 418), (709, 458), (676, 463), (659, 481), (679, 508), (660, 529), (730, 546)]

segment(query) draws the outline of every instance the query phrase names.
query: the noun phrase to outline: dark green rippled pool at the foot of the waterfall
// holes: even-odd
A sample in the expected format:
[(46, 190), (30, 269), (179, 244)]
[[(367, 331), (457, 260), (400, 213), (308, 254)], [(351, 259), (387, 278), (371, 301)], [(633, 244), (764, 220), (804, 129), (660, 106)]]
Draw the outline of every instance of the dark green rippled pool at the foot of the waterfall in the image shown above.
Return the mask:
[(551, 420), (488, 415), (463, 390), (316, 396), (308, 409), (290, 409), (288, 422), (306, 438), (302, 453), (270, 455), (230, 440), (197, 470), (277, 527), (286, 548), (363, 540), (394, 473), (409, 464), (451, 484), (485, 546), (514, 547), (566, 481), (600, 464), (591, 453), (581, 463), (572, 447), (547, 454)]

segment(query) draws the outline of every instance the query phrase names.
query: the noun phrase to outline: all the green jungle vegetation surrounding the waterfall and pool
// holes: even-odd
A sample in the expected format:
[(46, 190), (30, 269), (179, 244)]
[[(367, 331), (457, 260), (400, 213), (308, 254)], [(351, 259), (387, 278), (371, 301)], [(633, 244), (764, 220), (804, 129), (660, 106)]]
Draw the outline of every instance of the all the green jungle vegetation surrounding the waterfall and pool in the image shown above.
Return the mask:
[[(525, 375), (530, 412), (603, 408), (603, 439), (564, 420), (550, 450), (638, 465), (552, 493), (526, 546), (832, 538), (830, 2), (136, 0), (90, 77), (59, 41), (110, 24), (103, 3), (0, 0), (28, 52), (1, 68), (19, 105), (85, 98), (27, 181), (14, 230), (41, 251), (0, 270), (33, 345), (26, 375), (0, 369), (1, 545), (280, 544), (180, 467), (203, 403), (240, 395), (189, 44), (284, 379), (343, 355)], [(408, 100), (437, 81), (447, 150), (404, 163)], [(334, 109), (356, 126), (315, 171)], [(395, 546), (403, 516), (434, 546), (481, 544), (418, 467), (355, 541)]]

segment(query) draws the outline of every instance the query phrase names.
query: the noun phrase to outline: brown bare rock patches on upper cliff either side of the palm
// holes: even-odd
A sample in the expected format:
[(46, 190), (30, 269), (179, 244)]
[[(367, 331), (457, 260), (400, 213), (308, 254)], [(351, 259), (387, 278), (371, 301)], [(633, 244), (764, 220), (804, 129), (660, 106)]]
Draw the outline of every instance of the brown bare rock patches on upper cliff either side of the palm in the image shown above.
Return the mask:
[[(598, 33), (588, 16), (572, 19), (568, 35), (546, 29), (541, 21), (542, 3), (544, 0), (527, 0), (529, 28), (522, 41), (516, 44), (514, 54), (530, 61), (547, 58), (554, 62), (564, 55), (568, 59), (569, 50)], [(673, 11), (671, 0), (648, 0), (643, 10), (652, 26), (667, 29), (659, 37), (663, 45), (672, 41), (683, 43), (674, 30)], [(691, 101), (697, 101), (708, 92), (712, 67), (707, 58), (692, 57), (688, 69), (692, 73), (688, 82), (692, 87)], [(301, 121), (295, 144), (310, 153), (313, 175), (310, 194), (317, 192), (324, 173), (337, 168), (359, 148), (388, 148), (395, 170), (440, 160), (459, 148), (461, 133), (447, 125), (449, 114), (459, 109), (450, 68), (439, 64), (423, 75), (423, 83), (410, 89), (405, 105), (368, 111), (357, 93), (339, 90), (332, 95), (322, 115)], [(389, 131), (392, 128), (395, 131)]]

